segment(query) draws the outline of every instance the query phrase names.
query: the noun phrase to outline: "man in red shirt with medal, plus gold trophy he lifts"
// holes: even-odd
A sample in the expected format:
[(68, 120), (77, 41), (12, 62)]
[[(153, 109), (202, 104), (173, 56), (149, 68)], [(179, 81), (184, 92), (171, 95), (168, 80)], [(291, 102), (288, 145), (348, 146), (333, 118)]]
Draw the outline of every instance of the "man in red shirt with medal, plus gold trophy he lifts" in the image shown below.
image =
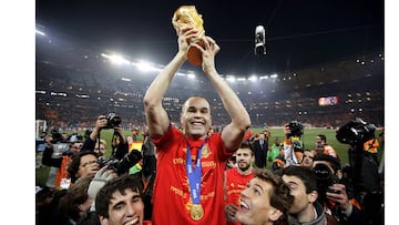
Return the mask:
[[(181, 7), (172, 21), (178, 35), (178, 51), (144, 96), (146, 123), (157, 150), (152, 223), (225, 224), (223, 174), (250, 119), (238, 96), (216, 71), (215, 55), (219, 47), (204, 34), (195, 7)], [(191, 60), (195, 55), (191, 51), (197, 51), (200, 61)], [(188, 98), (184, 103), (181, 113), (184, 132), (172, 125), (162, 105), (172, 79), (187, 58), (191, 63), (200, 62), (232, 119), (219, 133), (207, 132), (212, 125), (211, 106), (202, 96)]]

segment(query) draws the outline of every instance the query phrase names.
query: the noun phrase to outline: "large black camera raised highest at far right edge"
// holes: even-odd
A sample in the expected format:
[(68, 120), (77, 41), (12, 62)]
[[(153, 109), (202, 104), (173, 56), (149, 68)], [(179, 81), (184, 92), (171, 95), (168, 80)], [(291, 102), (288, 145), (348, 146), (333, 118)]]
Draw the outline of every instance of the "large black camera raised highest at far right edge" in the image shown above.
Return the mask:
[(362, 144), (375, 137), (376, 125), (360, 117), (349, 121), (337, 131), (336, 137), (344, 144)]

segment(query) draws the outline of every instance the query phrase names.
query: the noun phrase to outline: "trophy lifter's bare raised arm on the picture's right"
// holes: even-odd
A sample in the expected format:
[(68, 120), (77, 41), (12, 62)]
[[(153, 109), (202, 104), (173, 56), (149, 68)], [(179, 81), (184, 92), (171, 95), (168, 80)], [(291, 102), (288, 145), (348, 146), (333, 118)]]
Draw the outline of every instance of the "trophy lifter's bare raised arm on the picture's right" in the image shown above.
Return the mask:
[(238, 96), (216, 71), (215, 55), (221, 48), (209, 37), (203, 37), (202, 40), (205, 43), (204, 48), (198, 44), (192, 45), (202, 51), (203, 71), (216, 89), (223, 105), (232, 119), (232, 122), (222, 131), (222, 140), (228, 151), (235, 152), (242, 143), (245, 132), (250, 126), (250, 117)]

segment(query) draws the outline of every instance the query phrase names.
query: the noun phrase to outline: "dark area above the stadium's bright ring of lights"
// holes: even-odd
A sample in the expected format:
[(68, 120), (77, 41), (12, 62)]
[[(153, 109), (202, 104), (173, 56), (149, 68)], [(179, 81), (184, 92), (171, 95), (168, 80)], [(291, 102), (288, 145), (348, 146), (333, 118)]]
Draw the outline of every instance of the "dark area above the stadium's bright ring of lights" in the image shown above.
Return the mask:
[[(49, 35), (100, 51), (166, 64), (177, 49), (174, 10), (194, 4), (222, 48), (221, 73), (274, 73), (383, 52), (383, 1), (50, 1), (38, 0), (37, 24)], [(254, 54), (256, 25), (266, 29), (267, 53)], [(187, 70), (200, 70), (186, 63)]]

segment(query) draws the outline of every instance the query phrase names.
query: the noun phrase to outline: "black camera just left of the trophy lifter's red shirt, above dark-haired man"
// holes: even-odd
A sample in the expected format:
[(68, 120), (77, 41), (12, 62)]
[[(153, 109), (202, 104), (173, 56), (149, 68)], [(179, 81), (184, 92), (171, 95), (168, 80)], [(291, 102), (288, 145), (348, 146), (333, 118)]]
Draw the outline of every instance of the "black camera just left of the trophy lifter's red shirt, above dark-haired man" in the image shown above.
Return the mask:
[(100, 167), (108, 165), (109, 170), (113, 170), (116, 172), (117, 175), (122, 175), (129, 170), (139, 163), (142, 160), (142, 154), (139, 150), (132, 150), (131, 152), (126, 153), (122, 160), (117, 158), (106, 158), (104, 156), (99, 157)]

